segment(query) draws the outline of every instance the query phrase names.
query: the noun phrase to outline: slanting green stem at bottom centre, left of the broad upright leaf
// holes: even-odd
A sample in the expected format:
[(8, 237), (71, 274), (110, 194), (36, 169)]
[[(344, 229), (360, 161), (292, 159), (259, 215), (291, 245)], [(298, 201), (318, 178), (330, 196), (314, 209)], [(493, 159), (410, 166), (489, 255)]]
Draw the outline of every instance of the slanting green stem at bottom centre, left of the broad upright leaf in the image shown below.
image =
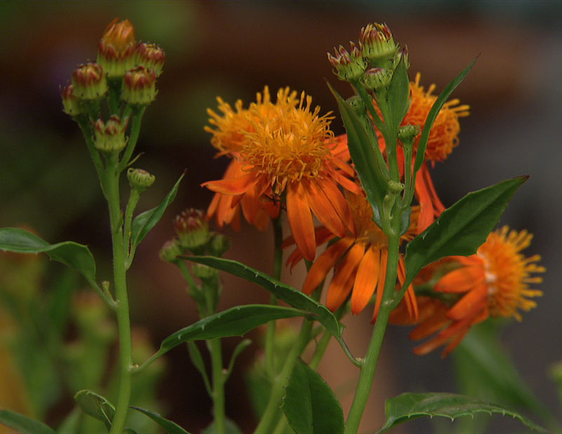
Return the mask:
[(261, 421), (256, 427), (256, 430), (254, 430), (254, 434), (271, 433), (273, 423), (275, 423), (275, 420), (277, 419), (277, 411), (279, 409), (281, 398), (283, 397), (283, 393), (285, 392), (285, 388), (289, 382), (289, 376), (296, 364), (297, 357), (299, 357), (299, 355), (303, 352), (310, 339), (312, 326), (312, 321), (305, 320), (303, 323), (301, 332), (296, 338), (294, 345), (285, 359), (285, 364), (283, 364), (280, 373), (277, 375), (277, 378), (272, 385), (268, 405), (261, 416)]

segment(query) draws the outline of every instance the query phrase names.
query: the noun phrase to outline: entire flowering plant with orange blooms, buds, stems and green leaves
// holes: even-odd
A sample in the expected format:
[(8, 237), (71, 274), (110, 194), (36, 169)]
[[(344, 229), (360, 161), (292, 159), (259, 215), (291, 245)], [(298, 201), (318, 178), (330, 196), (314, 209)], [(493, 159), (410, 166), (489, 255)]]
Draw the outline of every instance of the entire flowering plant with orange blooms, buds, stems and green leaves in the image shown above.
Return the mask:
[[(540, 283), (537, 273), (544, 272), (544, 267), (538, 264), (539, 256), (521, 253), (532, 236), (507, 227), (492, 232), (527, 177), (471, 192), (448, 208), (431, 179), (434, 164), (447, 159), (458, 144), (459, 118), (469, 114), (469, 107), (449, 98), (476, 60), (436, 96), (434, 86), (424, 90), (419, 74), (410, 81), (407, 49), (394, 40), (388, 26), (370, 24), (361, 29), (358, 44), (351, 43), (349, 50), (339, 46), (328, 54), (334, 74), (350, 84), (353, 92), (344, 99), (328, 85), (346, 134), (336, 136), (331, 129), (336, 118), (322, 114), (311, 96), (288, 87), (277, 91), (274, 100), (266, 86), (247, 108), (240, 100), (232, 107), (218, 98), (218, 112), (209, 110), (205, 130), (211, 133), (218, 156), (228, 157), (230, 163), (222, 179), (202, 185), (214, 192), (207, 211), (186, 209), (178, 215), (176, 236), (159, 252), (185, 277), (201, 319), (165, 338), (150, 354), (142, 336), (136, 337), (131, 329), (126, 272), (138, 245), (176, 197), (183, 175), (158, 206), (136, 214), (139, 199), (155, 176), (131, 166), (138, 161), (139, 156), (133, 154), (141, 120), (157, 96), (156, 81), (164, 60), (162, 48), (139, 44), (131, 22), (116, 19), (100, 40), (96, 63), (79, 65), (72, 83), (61, 91), (65, 113), (84, 133), (107, 201), (112, 282), (98, 282), (93, 255), (82, 244), (49, 244), (21, 228), (0, 230), (0, 249), (45, 253), (77, 270), (99, 296), (93, 300), (81, 294), (73, 305), (84, 357), (69, 355), (72, 348), (63, 333), (65, 319), (48, 317), (48, 329), (53, 330), (48, 334), (50, 342), (65, 348), (62, 362), (72, 367), (63, 375), (76, 402), (76, 409), (56, 432), (82, 432), (89, 423), (100, 423), (111, 433), (154, 430), (138, 421), (144, 415), (148, 416), (145, 421), (168, 433), (187, 433), (146, 408), (157, 407), (154, 384), (162, 367), (155, 367), (169, 350), (184, 343), (214, 403), (213, 421), (204, 432), (240, 432), (226, 417), (224, 390), (237, 356), (249, 341), (240, 341), (225, 364), (221, 338), (242, 336), (264, 326), (264, 355), (255, 368), (263, 395), (254, 432), (357, 433), (388, 324), (414, 326), (412, 340), (427, 338), (414, 353), (443, 348), (446, 357), (476, 324), (490, 317), (521, 320), (520, 310), (535, 307), (533, 298), (542, 293), (529, 285)], [(123, 208), (120, 179), (124, 172), (129, 199)], [(283, 233), (285, 213), (290, 235)], [(220, 230), (225, 225), (240, 228), (242, 216), (261, 231), (268, 230), (271, 222), (273, 276), (223, 258), (230, 242)], [(211, 230), (212, 221), (218, 231)], [(308, 269), (300, 288), (280, 280), (283, 251), (289, 248), (287, 266), (293, 268), (302, 261)], [(270, 304), (241, 301), (218, 311), (223, 289), (220, 271), (266, 289)], [(329, 284), (323, 295), (325, 281)], [(57, 303), (63, 301), (69, 303), (70, 291), (61, 291)], [(341, 318), (349, 311), (358, 314), (367, 305), (373, 311), (372, 338), (365, 356), (356, 357), (346, 344)], [(21, 306), (18, 312), (25, 317), (27, 305)], [(111, 323), (107, 310), (117, 318), (119, 357), (110, 386), (104, 388), (102, 367), (115, 338), (112, 326), (102, 327)], [(300, 329), (289, 339), (287, 349), (280, 350), (281, 330), (276, 322), (295, 317), (302, 318)], [(346, 417), (316, 371), (332, 339), (360, 370)], [(210, 369), (195, 345), (202, 340), (207, 342)], [(84, 381), (85, 372), (88, 381)], [(39, 407), (44, 410), (54, 404), (37, 402), (42, 402)], [(532, 412), (540, 407), (528, 396), (518, 404)], [(421, 416), (455, 419), (479, 412), (509, 414), (530, 429), (543, 429), (509, 402), (451, 393), (404, 393), (387, 401), (386, 423), (377, 432)], [(556, 424), (547, 412), (537, 413), (545, 423)], [(84, 414), (91, 418), (84, 419)], [(11, 409), (0, 411), (0, 422), (22, 433), (55, 432)]]

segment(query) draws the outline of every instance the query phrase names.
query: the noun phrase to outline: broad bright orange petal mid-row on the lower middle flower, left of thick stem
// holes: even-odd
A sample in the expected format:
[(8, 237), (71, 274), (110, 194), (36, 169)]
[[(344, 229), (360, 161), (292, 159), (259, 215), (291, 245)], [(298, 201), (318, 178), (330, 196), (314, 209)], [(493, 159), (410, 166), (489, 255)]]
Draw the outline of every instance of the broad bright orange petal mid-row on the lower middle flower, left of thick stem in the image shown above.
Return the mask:
[(357, 275), (355, 275), (353, 293), (351, 294), (351, 313), (360, 313), (369, 303), (374, 289), (377, 287), (380, 266), (381, 252), (376, 247), (371, 246), (365, 251)]

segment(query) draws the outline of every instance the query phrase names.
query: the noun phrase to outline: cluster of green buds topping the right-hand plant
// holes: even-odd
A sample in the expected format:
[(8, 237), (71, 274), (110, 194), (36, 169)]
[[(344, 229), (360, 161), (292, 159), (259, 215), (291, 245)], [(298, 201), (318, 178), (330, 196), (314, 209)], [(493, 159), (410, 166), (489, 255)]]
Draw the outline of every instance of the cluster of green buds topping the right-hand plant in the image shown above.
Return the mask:
[(359, 43), (350, 42), (350, 51), (343, 46), (328, 53), (329, 63), (339, 79), (360, 81), (370, 91), (388, 88), (396, 67), (403, 60), (408, 67), (407, 49), (394, 41), (386, 24), (373, 23), (362, 27)]

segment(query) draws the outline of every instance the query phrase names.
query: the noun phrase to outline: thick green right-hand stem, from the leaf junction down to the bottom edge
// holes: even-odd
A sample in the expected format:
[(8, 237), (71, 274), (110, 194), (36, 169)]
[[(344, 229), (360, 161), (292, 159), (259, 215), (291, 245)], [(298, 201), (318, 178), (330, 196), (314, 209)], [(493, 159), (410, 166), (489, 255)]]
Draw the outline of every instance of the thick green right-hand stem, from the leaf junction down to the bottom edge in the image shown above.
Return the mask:
[[(400, 219), (398, 218), (398, 221), (399, 220)], [(383, 300), (379, 310), (379, 315), (377, 316), (377, 322), (374, 324), (374, 330), (369, 343), (369, 348), (367, 349), (367, 355), (365, 355), (365, 360), (361, 366), (358, 385), (355, 389), (353, 404), (351, 405), (346, 423), (346, 430), (344, 431), (346, 434), (357, 433), (359, 423), (371, 391), (374, 371), (377, 368), (377, 360), (379, 360), (382, 341), (386, 331), (386, 325), (388, 324), (388, 317), (391, 313), (391, 309), (388, 306), (388, 299), (391, 298), (396, 287), (399, 242), (400, 237), (398, 235), (388, 237), (388, 264), (386, 265), (386, 283), (384, 285)]]

